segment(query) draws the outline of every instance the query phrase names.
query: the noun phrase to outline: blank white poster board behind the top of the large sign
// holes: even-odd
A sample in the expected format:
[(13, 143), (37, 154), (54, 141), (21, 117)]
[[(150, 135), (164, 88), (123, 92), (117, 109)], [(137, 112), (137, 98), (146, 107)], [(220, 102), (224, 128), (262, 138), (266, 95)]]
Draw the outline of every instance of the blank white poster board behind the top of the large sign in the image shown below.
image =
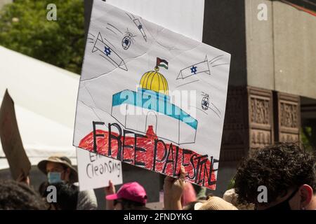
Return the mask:
[(147, 21), (202, 42), (205, 0), (107, 0)]

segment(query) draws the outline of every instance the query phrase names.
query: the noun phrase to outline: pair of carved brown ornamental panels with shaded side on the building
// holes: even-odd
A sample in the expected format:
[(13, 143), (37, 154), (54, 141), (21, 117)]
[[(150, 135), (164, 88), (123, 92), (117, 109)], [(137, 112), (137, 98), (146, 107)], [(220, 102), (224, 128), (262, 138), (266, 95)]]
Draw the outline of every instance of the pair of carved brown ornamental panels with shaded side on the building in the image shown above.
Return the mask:
[(275, 141), (298, 141), (300, 110), (298, 96), (229, 87), (220, 160), (239, 161)]

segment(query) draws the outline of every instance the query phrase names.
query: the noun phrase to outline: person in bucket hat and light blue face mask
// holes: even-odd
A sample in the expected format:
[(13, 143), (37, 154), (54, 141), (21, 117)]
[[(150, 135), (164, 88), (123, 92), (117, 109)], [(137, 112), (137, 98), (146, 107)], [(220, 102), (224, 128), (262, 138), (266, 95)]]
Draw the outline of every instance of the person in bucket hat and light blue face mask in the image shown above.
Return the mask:
[[(37, 167), (47, 175), (48, 186), (56, 183), (78, 186), (77, 170), (72, 167), (71, 160), (63, 155), (53, 155), (47, 160), (42, 160)], [(79, 192), (77, 210), (95, 210), (97, 208), (98, 203), (93, 190)]]

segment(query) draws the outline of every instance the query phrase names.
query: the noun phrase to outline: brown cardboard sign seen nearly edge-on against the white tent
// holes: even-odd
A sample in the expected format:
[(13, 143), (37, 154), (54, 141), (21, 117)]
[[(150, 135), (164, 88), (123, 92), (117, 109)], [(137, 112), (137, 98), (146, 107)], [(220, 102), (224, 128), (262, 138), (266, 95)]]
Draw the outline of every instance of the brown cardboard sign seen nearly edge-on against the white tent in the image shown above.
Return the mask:
[(8, 90), (4, 94), (0, 109), (0, 138), (13, 179), (17, 180), (21, 175), (27, 177), (31, 163), (23, 148), (15, 118), (14, 102), (8, 94)]

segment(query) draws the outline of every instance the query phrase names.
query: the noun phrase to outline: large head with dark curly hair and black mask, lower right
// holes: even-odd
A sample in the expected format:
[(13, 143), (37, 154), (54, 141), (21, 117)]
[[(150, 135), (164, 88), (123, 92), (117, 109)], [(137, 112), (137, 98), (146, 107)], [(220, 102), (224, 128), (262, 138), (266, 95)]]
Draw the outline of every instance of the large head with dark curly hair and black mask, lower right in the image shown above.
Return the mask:
[[(258, 149), (237, 169), (235, 192), (239, 202), (253, 203), (260, 210), (316, 209), (315, 157), (297, 144), (279, 143)], [(267, 202), (265, 197), (258, 202), (261, 193)]]

